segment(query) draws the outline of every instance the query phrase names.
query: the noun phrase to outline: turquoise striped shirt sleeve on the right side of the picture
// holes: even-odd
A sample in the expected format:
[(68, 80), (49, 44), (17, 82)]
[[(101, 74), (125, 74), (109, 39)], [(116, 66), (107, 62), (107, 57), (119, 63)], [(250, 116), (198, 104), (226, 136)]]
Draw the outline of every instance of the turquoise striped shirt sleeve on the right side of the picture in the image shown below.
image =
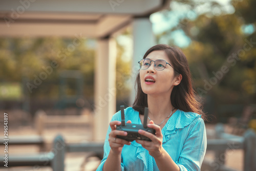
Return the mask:
[(186, 138), (179, 161), (176, 164), (181, 171), (198, 170), (202, 165), (206, 152), (206, 129), (202, 118), (195, 119)]

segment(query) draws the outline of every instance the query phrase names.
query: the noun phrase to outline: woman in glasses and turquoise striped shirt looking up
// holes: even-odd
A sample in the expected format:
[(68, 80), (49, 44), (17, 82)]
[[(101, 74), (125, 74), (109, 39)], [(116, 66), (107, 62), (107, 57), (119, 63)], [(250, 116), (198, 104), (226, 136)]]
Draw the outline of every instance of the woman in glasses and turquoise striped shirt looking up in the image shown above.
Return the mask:
[(148, 127), (156, 135), (139, 130), (152, 141), (128, 142), (117, 135), (120, 111), (110, 122), (104, 157), (97, 170), (200, 170), (206, 151), (206, 131), (201, 104), (191, 86), (183, 52), (177, 47), (156, 45), (139, 61), (137, 95), (124, 111), (127, 123), (142, 124), (148, 107)]

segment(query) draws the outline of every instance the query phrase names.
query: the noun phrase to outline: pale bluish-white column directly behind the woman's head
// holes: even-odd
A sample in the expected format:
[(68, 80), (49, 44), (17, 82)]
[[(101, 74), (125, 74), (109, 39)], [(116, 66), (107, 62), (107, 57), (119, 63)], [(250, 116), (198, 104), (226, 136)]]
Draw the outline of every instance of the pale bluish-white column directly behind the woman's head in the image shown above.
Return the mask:
[[(156, 45), (155, 36), (152, 31), (152, 23), (149, 18), (134, 18), (132, 23), (133, 28), (133, 61), (132, 61), (132, 80), (135, 82), (139, 63), (145, 52), (152, 46)], [(130, 104), (135, 100), (136, 90), (132, 87)]]

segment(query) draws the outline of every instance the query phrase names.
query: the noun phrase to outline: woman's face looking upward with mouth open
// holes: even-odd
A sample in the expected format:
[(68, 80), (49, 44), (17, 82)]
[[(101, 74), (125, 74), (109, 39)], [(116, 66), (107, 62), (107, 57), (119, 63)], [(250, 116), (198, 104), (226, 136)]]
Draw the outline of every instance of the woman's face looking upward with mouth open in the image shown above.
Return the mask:
[[(170, 65), (169, 58), (163, 50), (153, 51), (147, 55), (148, 59), (156, 61), (157, 59), (163, 59)], [(147, 95), (166, 95), (173, 90), (174, 86), (177, 86), (181, 80), (178, 80), (179, 77), (175, 77), (174, 69), (166, 64), (166, 67), (162, 71), (158, 71), (155, 69), (155, 62), (151, 61), (150, 67), (146, 70), (140, 70), (140, 82), (142, 91)], [(172, 65), (173, 66), (173, 65)]]

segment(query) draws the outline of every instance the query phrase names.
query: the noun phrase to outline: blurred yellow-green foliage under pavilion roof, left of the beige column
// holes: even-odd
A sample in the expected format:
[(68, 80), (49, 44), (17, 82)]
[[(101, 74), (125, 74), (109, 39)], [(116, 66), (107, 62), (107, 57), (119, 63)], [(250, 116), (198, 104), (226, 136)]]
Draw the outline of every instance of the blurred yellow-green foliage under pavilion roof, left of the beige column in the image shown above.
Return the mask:
[(90, 39), (1, 38), (0, 81), (26, 81), (31, 97), (58, 98), (59, 73), (80, 70), (84, 76), (84, 96), (93, 97), (94, 54)]

